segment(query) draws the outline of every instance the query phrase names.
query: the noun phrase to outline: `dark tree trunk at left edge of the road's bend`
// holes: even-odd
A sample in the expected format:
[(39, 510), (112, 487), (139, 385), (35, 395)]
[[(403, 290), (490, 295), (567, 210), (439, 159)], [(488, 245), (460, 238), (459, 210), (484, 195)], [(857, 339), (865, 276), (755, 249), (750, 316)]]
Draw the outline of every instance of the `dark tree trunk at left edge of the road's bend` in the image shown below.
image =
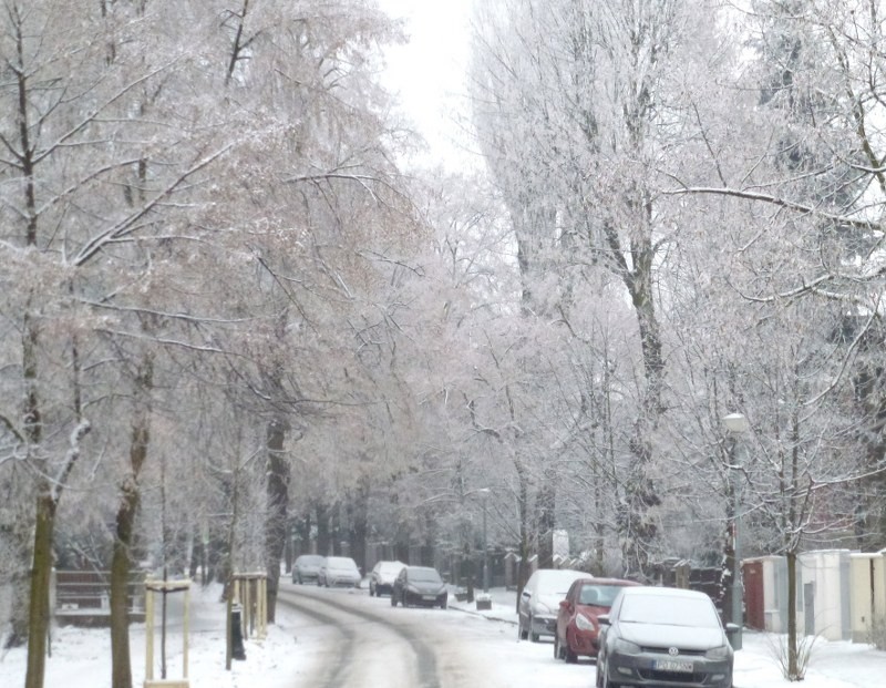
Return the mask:
[(277, 591), (280, 585), (280, 558), (286, 542), (289, 504), (289, 463), (284, 454), (286, 425), (275, 419), (268, 424), (268, 515), (265, 523), (265, 565), (268, 572), (268, 623), (276, 620)]

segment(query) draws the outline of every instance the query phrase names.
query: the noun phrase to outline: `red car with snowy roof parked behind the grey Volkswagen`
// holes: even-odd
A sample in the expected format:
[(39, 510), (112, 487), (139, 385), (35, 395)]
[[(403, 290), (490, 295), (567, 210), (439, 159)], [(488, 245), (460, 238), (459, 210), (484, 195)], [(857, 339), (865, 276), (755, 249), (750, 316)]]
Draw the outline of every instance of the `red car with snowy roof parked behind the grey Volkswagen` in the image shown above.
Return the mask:
[(620, 578), (580, 578), (573, 583), (557, 614), (555, 659), (575, 663), (579, 655), (596, 658), (600, 633), (597, 617), (609, 613), (622, 587), (633, 585), (639, 583)]

